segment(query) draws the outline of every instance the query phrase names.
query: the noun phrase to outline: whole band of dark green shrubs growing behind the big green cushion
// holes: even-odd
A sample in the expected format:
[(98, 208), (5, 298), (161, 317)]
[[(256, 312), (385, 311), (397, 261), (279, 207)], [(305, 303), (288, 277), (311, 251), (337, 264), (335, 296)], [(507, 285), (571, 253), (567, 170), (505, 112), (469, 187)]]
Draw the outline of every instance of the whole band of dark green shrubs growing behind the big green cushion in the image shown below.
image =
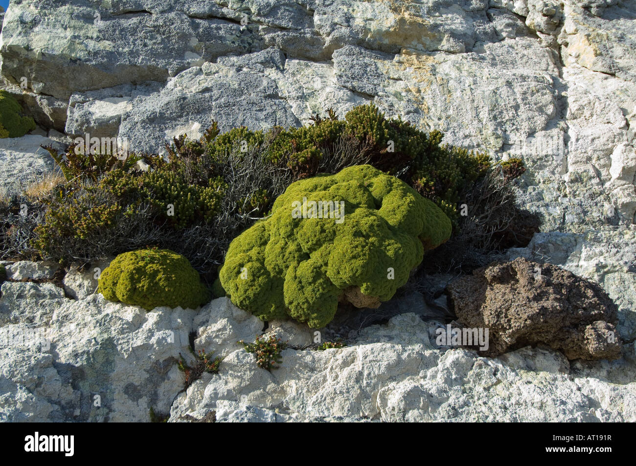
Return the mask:
[[(431, 199), (457, 227), (458, 203), (488, 171), (485, 154), (444, 146), (441, 133), (385, 118), (373, 104), (352, 109), (345, 120), (331, 110), (313, 120), (303, 128), (242, 127), (224, 134), (214, 122), (199, 140), (175, 138), (167, 161), (77, 154), (74, 146), (62, 155), (53, 151), (69, 181), (38, 204), (46, 215), (28, 225), (20, 221), (20, 235), (4, 236), (3, 250), (89, 261), (156, 245), (188, 257), (212, 282), (232, 239), (266, 216), (297, 179), (373, 165)], [(140, 159), (148, 172), (137, 170)], [(3, 222), (18, 225), (12, 218)]]

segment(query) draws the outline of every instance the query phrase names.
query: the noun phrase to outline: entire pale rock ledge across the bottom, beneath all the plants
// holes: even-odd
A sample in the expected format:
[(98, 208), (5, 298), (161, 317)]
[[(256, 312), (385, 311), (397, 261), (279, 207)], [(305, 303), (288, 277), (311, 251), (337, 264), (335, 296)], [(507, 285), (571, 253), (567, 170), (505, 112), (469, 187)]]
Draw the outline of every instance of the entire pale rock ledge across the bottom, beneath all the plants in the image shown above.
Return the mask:
[[(51, 284), (4, 284), (3, 305), (17, 285)], [(99, 294), (74, 301), (43, 291), (43, 317), (15, 301), (24, 303), (22, 317), (0, 326), (0, 336), (38, 328), (50, 339), (41, 348), (40, 340), (0, 338), (3, 421), (147, 421), (150, 408), (170, 411), (171, 421), (636, 420), (632, 346), (613, 362), (571, 365), (541, 348), (485, 359), (437, 348), (429, 323), (411, 313), (366, 327), (342, 349), (284, 350), (270, 373), (236, 343), (260, 334), (263, 323), (227, 298), (199, 311), (146, 312)], [(191, 332), (195, 350), (225, 359), (219, 374), (204, 373), (182, 392), (176, 363), (181, 353), (195, 364)]]

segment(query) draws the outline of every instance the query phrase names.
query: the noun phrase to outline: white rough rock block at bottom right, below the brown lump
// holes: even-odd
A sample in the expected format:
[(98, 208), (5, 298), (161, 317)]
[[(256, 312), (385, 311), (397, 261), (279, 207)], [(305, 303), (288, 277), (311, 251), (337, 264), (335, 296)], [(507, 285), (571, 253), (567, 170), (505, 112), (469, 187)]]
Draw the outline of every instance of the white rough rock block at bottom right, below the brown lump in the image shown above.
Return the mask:
[[(177, 396), (170, 421), (626, 421), (636, 358), (576, 362), (542, 348), (495, 359), (436, 349), (414, 314), (367, 327), (354, 346), (284, 350), (268, 372), (244, 350)], [(611, 400), (611, 401), (610, 401)]]

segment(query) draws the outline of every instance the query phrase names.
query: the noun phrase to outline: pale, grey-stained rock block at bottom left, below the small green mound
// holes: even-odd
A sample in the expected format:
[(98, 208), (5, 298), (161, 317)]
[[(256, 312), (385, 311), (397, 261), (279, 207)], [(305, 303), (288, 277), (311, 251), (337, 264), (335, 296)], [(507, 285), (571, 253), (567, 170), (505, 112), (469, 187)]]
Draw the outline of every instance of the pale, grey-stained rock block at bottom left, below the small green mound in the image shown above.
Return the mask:
[[(13, 336), (9, 345), (0, 338), (0, 420), (148, 421), (150, 408), (167, 413), (184, 387), (179, 353), (194, 362), (188, 334), (197, 312), (146, 312), (99, 294), (74, 301), (59, 290), (61, 298), (50, 296), (36, 306), (21, 301), (24, 313), (48, 310), (47, 319), (23, 317), (0, 327), (0, 336)], [(27, 327), (41, 329), (50, 348), (15, 344), (15, 335), (26, 334)]]

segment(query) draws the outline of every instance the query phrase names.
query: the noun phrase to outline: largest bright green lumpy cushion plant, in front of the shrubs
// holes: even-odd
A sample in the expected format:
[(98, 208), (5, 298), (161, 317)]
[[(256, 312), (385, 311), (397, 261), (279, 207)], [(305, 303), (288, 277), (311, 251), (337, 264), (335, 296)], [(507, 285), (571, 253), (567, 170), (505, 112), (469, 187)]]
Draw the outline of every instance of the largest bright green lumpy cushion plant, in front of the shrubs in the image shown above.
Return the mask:
[(349, 167), (291, 184), (268, 219), (230, 243), (219, 280), (235, 305), (263, 320), (322, 327), (351, 290), (363, 302), (391, 299), (424, 251), (451, 233), (442, 210), (404, 182)]

